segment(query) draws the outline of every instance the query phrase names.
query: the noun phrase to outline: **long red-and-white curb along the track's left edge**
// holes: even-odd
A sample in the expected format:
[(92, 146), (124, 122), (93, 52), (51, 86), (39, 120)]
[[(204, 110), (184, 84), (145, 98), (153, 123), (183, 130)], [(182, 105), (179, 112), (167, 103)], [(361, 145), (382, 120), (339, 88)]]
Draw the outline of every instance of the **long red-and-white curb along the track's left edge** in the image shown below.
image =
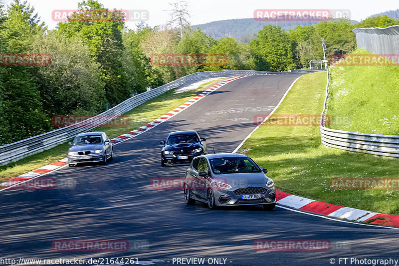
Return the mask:
[[(269, 74), (266, 74), (266, 75), (269, 75)], [(214, 86), (202, 91), (199, 95), (195, 96), (194, 98), (192, 98), (191, 100), (185, 102), (184, 104), (178, 106), (177, 108), (173, 109), (172, 111), (166, 113), (165, 115), (155, 119), (154, 121), (152, 121), (152, 122), (150, 122), (150, 123), (138, 128), (136, 130), (130, 131), (130, 132), (126, 133), (126, 134), (123, 134), (123, 135), (120, 135), (120, 136), (118, 136), (116, 138), (111, 139), (111, 142), (114, 145), (117, 145), (117, 144), (122, 143), (122, 142), (124, 142), (124, 141), (126, 141), (128, 139), (134, 138), (134, 137), (136, 137), (136, 136), (138, 136), (138, 135), (140, 135), (140, 134), (142, 134), (142, 133), (154, 128), (155, 126), (161, 124), (162, 122), (167, 121), (171, 117), (174, 117), (176, 114), (178, 114), (178, 113), (182, 112), (183, 110), (187, 109), (188, 107), (192, 106), (194, 103), (198, 102), (200, 99), (202, 99), (206, 95), (210, 94), (212, 91), (217, 90), (221, 86), (223, 86), (223, 85), (225, 85), (225, 84), (227, 84), (227, 83), (229, 83), (231, 81), (234, 81), (236, 79), (243, 78), (243, 77), (246, 77), (246, 76), (236, 76), (236, 77), (232, 77), (232, 78), (229, 78), (229, 79), (225, 79), (225, 80), (217, 83), (216, 85), (214, 85)], [(30, 180), (30, 179), (33, 179), (33, 178), (37, 178), (37, 177), (39, 177), (41, 175), (48, 174), (48, 173), (50, 173), (52, 171), (55, 171), (57, 169), (60, 169), (61, 167), (66, 166), (67, 164), (68, 164), (68, 160), (67, 160), (67, 158), (64, 158), (64, 159), (61, 159), (61, 160), (56, 161), (54, 163), (51, 163), (51, 164), (45, 165), (43, 167), (40, 167), (39, 169), (36, 169), (36, 170), (30, 171), (28, 173), (22, 174), (22, 175), (20, 175), (18, 177), (14, 177), (14, 178), (6, 181), (6, 182), (1, 183), (0, 186), (6, 187), (6, 188), (1, 189), (0, 191), (2, 191), (4, 189), (7, 189), (10, 186), (13, 186), (15, 184), (18, 184), (19, 182), (24, 182), (24, 181), (27, 181), (27, 180)]]

